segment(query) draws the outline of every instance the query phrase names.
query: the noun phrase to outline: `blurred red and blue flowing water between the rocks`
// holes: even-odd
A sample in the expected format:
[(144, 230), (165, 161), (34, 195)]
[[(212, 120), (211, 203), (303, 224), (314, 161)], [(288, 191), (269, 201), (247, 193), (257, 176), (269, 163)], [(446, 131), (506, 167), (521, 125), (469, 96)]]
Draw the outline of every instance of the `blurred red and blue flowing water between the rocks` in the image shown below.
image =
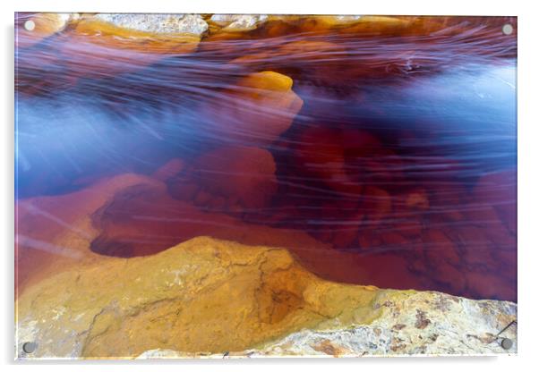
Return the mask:
[[(517, 300), (517, 39), (506, 22), (516, 26), (269, 22), (167, 55), (68, 28), (17, 48), (17, 204), (137, 173), (156, 185), (92, 213), (93, 252), (131, 258), (210, 235), (286, 247), (338, 282)], [(265, 97), (281, 75), (257, 72), (290, 77), (295, 96)], [(37, 215), (74, 230), (56, 208)], [(21, 272), (39, 270), (24, 255), (57, 249), (32, 221), (18, 224)]]

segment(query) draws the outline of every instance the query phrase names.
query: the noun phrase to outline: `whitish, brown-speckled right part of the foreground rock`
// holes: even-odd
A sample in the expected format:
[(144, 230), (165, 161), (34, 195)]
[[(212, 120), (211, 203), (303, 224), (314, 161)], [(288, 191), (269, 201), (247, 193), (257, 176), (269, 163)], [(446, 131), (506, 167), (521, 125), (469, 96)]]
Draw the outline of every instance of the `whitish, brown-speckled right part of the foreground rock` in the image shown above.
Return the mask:
[[(378, 302), (383, 315), (370, 325), (303, 330), (246, 354), (256, 358), (517, 352), (516, 342), (504, 351), (494, 337), (516, 318), (512, 302), (466, 300), (438, 292), (386, 293), (388, 300), (382, 302), (382, 295)], [(516, 325), (506, 332), (505, 337), (516, 341)]]

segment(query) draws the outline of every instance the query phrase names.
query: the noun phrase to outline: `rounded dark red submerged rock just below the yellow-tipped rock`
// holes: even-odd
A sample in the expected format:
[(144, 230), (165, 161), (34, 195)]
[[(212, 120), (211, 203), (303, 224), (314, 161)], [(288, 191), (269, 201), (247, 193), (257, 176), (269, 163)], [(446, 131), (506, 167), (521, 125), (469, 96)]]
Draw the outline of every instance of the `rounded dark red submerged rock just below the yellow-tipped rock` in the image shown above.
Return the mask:
[(218, 148), (196, 159), (193, 179), (213, 197), (236, 199), (247, 208), (264, 207), (278, 188), (276, 165), (268, 150)]

